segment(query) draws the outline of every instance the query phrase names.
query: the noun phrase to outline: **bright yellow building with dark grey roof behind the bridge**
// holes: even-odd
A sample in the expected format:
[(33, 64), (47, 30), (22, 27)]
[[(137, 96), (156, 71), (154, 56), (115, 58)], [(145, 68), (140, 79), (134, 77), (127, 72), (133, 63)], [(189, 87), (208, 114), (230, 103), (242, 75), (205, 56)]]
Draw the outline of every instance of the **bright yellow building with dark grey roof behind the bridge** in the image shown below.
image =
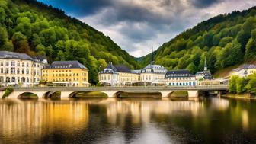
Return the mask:
[(78, 61), (56, 61), (42, 69), (42, 79), (54, 86), (89, 86), (88, 69)]

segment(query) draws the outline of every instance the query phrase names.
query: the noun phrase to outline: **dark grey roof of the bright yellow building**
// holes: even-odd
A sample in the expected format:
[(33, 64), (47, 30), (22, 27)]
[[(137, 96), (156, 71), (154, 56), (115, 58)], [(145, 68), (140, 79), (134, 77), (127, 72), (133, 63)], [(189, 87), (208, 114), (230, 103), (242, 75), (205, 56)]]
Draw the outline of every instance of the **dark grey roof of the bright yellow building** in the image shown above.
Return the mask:
[(55, 61), (51, 65), (46, 66), (48, 69), (87, 69), (78, 61)]

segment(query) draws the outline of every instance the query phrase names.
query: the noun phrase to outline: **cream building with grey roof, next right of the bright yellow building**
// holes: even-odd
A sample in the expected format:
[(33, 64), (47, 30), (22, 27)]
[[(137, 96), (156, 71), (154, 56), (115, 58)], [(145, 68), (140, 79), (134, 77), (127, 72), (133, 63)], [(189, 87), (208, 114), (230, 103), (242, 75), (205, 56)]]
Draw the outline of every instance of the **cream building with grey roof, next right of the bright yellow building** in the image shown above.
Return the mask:
[(114, 66), (112, 62), (108, 63), (107, 67), (99, 72), (98, 78), (101, 85), (109, 86), (134, 85), (139, 82), (139, 74), (123, 65)]

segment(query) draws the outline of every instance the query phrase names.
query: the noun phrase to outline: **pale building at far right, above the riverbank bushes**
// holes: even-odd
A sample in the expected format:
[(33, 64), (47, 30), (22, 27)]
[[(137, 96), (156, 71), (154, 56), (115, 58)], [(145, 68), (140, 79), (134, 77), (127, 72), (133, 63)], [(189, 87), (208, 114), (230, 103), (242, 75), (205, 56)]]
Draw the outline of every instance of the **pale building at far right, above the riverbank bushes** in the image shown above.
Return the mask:
[(238, 75), (239, 77), (247, 77), (248, 75), (253, 75), (256, 73), (256, 65), (242, 65), (237, 69), (233, 69), (232, 72), (229, 73), (230, 77), (234, 75)]

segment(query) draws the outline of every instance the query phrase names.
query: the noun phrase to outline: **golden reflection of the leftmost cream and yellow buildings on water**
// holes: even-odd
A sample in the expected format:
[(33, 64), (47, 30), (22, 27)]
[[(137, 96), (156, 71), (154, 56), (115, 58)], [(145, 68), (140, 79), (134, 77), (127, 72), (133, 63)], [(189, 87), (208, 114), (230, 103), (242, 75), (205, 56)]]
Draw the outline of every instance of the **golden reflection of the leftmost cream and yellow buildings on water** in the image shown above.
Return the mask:
[(5, 136), (23, 134), (41, 135), (65, 129), (72, 133), (74, 127), (85, 127), (88, 122), (88, 103), (72, 101), (21, 101), (9, 99), (0, 104), (0, 133)]

